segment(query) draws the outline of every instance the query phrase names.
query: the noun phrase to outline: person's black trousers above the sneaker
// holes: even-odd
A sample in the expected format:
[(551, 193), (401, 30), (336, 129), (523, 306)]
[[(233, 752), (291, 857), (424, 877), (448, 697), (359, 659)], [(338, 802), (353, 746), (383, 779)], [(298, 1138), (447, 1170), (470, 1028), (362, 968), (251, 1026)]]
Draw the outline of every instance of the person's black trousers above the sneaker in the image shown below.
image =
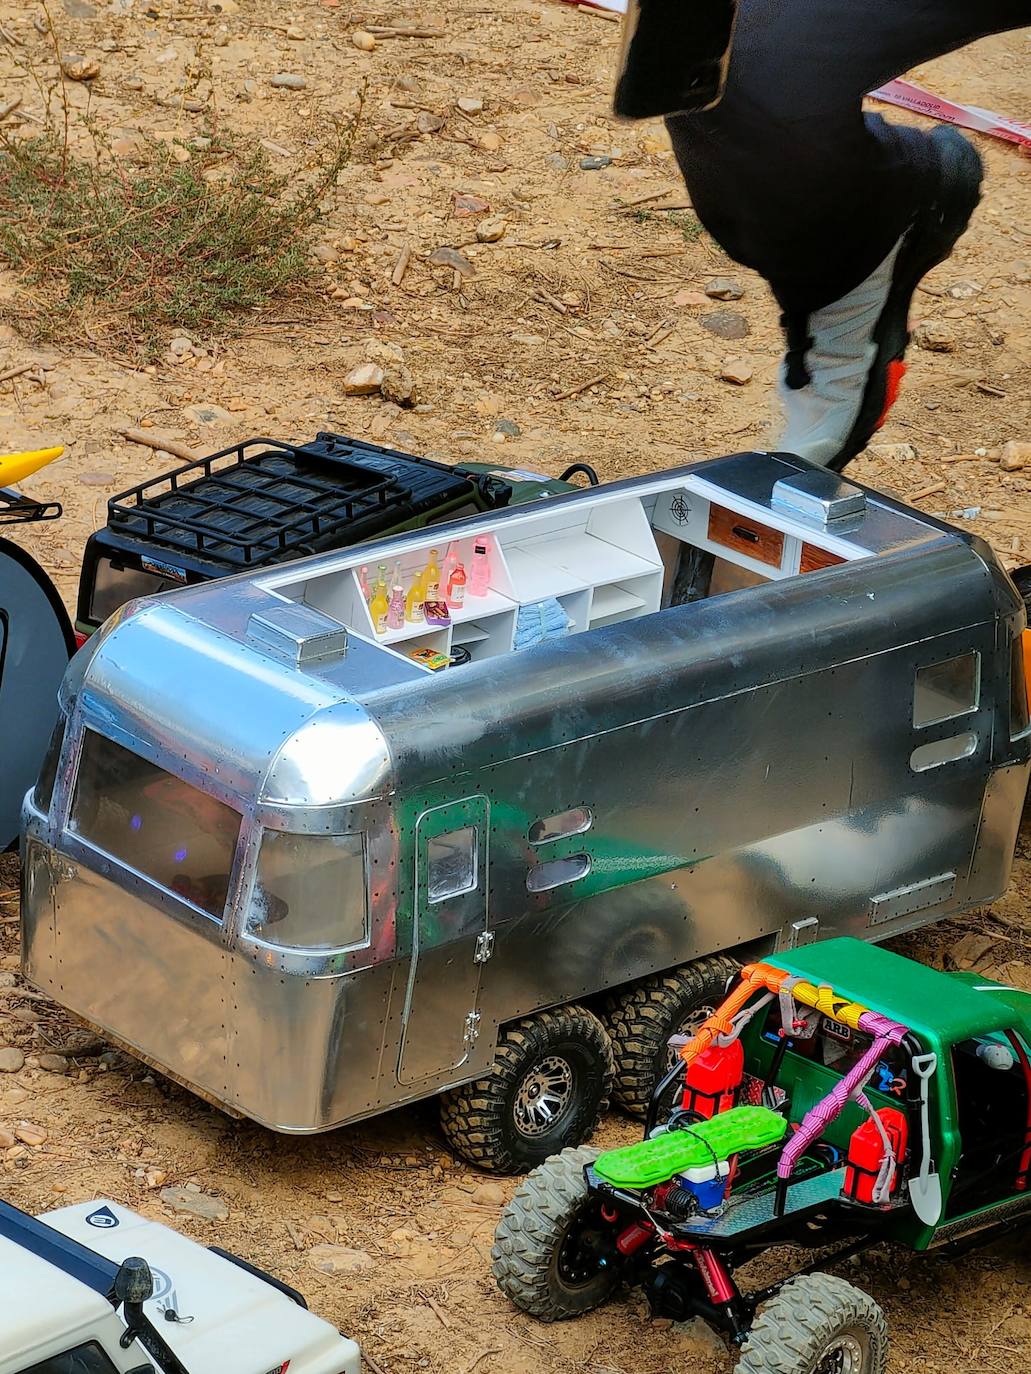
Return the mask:
[(1031, 0), (741, 0), (722, 102), (667, 121), (698, 218), (785, 309), (837, 300), (935, 179), (927, 135), (863, 115), (863, 95), (1028, 23)]

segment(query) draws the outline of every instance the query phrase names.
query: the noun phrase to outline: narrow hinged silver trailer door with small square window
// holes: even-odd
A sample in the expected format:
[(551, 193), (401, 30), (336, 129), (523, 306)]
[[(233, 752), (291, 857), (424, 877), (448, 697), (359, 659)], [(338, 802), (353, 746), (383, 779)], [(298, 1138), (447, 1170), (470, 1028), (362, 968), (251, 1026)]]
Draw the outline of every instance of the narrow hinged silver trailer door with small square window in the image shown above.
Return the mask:
[(423, 811), (415, 826), (412, 956), (397, 1077), (422, 1083), (469, 1058), (480, 970), (489, 955), (489, 802), (467, 797)]

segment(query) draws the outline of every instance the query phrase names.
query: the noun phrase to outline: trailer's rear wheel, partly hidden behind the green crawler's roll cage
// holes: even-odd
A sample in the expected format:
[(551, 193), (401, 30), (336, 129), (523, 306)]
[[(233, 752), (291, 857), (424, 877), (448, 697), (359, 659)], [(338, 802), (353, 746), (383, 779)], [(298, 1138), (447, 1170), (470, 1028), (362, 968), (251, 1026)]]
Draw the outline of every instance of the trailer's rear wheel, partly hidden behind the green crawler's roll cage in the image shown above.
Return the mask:
[(720, 1004), (741, 965), (727, 955), (696, 959), (606, 999), (605, 1021), (616, 1055), (613, 1098), (631, 1116), (647, 1114), (652, 1092), (672, 1068), (671, 1035), (696, 1030)]

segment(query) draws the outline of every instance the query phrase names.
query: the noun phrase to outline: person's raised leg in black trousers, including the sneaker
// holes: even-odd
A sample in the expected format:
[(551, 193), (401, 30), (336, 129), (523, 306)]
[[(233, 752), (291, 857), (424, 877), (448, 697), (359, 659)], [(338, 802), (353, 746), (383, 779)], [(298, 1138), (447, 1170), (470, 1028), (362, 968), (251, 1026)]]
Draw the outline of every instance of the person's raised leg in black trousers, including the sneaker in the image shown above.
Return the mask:
[(1028, 22), (1031, 0), (741, 0), (722, 102), (667, 121), (700, 220), (785, 312), (782, 447), (836, 467), (863, 447), (917, 282), (979, 198), (962, 136), (863, 115), (863, 93)]

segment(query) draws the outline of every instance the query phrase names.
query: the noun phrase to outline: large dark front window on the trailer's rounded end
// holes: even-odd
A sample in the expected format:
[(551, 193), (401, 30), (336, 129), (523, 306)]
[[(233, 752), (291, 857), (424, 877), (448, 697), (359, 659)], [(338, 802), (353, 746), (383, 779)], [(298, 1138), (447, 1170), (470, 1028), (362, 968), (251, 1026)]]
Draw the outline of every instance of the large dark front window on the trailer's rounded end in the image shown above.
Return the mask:
[(71, 829), (210, 916), (225, 908), (239, 826), (231, 807), (87, 731)]

